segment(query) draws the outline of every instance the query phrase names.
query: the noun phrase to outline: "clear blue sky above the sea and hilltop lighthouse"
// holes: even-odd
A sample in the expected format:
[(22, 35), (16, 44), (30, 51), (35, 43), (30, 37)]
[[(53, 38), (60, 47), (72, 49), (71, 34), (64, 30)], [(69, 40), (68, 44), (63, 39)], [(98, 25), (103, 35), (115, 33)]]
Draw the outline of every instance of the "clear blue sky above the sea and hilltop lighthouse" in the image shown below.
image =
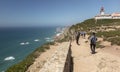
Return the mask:
[(72, 25), (120, 12), (120, 0), (0, 0), (0, 27)]

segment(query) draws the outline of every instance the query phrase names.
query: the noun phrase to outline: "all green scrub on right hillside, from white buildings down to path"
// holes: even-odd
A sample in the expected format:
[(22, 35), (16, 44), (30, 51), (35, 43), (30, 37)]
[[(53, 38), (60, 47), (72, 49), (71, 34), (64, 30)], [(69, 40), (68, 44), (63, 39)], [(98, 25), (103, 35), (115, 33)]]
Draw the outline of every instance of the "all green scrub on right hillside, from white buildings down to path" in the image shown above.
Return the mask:
[[(101, 20), (95, 20), (95, 19), (88, 19), (84, 22), (77, 23), (76, 25), (72, 25), (69, 29), (69, 31), (86, 31), (89, 35), (91, 34), (91, 31), (96, 31), (96, 35), (98, 37), (102, 37), (106, 41), (110, 41), (111, 44), (120, 45), (120, 29), (114, 28), (114, 26), (120, 26), (120, 19), (101, 19)], [(106, 28), (104, 28), (106, 26)], [(101, 31), (100, 28), (108, 29), (111, 28), (115, 29), (114, 31)], [(98, 31), (97, 31), (98, 30)], [(97, 47), (101, 47), (99, 45), (100, 43), (97, 43)]]

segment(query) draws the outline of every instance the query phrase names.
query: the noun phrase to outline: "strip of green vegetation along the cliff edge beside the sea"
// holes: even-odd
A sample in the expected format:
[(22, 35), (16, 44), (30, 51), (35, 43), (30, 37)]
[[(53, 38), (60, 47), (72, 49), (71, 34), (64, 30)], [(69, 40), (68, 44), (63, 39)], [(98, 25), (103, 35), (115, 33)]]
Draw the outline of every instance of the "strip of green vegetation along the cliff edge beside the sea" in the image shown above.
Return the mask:
[(29, 54), (24, 60), (21, 62), (9, 67), (6, 72), (25, 72), (28, 67), (33, 64), (35, 58), (40, 56), (42, 52), (45, 52), (46, 49), (49, 49), (49, 45), (54, 45), (54, 42), (48, 42), (43, 44), (42, 46), (38, 47), (34, 52)]

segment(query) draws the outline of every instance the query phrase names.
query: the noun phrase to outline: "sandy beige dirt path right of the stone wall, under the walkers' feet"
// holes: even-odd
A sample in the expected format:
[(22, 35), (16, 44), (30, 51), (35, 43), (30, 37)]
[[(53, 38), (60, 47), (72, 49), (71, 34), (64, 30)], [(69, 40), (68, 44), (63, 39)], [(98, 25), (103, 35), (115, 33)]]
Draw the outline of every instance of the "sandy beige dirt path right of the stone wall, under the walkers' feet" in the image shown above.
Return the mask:
[(77, 45), (72, 42), (72, 56), (74, 68), (73, 72), (120, 72), (120, 57), (96, 50), (96, 54), (91, 54), (87, 39), (80, 38)]

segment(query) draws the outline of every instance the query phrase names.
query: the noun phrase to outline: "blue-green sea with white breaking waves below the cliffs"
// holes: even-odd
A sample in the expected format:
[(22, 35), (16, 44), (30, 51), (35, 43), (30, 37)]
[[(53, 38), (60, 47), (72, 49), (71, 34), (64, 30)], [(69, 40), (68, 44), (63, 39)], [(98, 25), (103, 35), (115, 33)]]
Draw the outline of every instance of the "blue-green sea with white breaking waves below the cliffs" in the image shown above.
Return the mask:
[(52, 41), (57, 27), (0, 28), (0, 72)]

